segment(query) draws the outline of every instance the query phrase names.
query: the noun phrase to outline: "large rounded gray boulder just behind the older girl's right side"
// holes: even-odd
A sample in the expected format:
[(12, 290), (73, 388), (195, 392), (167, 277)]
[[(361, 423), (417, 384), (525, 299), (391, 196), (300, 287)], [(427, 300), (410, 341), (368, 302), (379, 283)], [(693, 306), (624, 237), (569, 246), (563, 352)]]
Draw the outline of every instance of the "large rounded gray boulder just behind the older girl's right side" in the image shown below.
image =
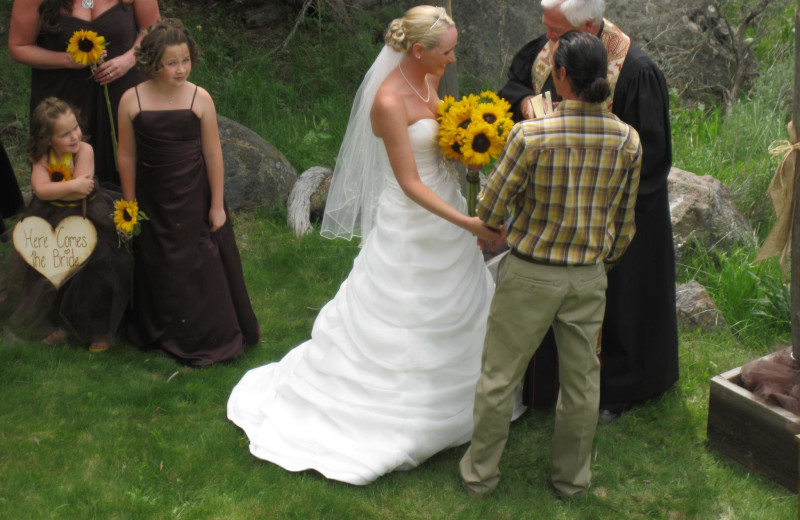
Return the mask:
[(228, 207), (235, 211), (284, 204), (297, 180), (288, 159), (249, 128), (224, 116), (217, 118)]

